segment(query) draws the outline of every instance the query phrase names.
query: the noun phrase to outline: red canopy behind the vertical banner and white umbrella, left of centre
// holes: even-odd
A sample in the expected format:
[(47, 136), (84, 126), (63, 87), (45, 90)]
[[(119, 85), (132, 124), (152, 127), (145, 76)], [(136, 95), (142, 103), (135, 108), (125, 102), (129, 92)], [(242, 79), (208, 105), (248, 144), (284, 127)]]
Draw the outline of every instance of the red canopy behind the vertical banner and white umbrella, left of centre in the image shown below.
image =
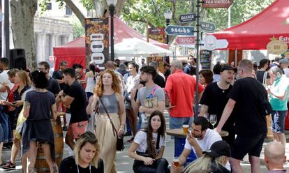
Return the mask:
[[(110, 31), (110, 29), (109, 29)], [(142, 34), (138, 33), (127, 24), (119, 20), (118, 17), (114, 17), (114, 44), (120, 43), (124, 38), (140, 38), (146, 40)], [(156, 40), (149, 39), (149, 43), (168, 49), (167, 44), (159, 43)], [(85, 67), (85, 40), (84, 36), (77, 38), (76, 40), (67, 43), (66, 45), (60, 45), (53, 47), (53, 54), (55, 57), (54, 67), (58, 68), (60, 61), (67, 61), (68, 66), (72, 66), (73, 63), (80, 63)]]

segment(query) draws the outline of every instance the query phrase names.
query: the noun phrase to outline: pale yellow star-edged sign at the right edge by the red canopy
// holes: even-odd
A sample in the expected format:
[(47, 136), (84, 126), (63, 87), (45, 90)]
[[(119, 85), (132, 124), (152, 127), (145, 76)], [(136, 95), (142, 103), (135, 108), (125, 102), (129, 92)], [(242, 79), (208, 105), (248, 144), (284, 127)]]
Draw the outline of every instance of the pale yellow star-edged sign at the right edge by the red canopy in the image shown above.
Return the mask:
[(283, 54), (288, 50), (288, 45), (286, 42), (273, 37), (267, 45), (267, 50), (269, 54)]

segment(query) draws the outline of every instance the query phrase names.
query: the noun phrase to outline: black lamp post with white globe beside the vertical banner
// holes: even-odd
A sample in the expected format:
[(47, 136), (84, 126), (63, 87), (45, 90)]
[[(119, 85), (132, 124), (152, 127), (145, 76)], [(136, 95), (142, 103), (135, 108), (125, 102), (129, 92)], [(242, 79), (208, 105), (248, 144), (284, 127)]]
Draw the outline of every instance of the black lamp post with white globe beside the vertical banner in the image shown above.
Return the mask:
[(106, 0), (110, 10), (110, 61), (114, 61), (114, 24), (113, 16), (117, 0)]

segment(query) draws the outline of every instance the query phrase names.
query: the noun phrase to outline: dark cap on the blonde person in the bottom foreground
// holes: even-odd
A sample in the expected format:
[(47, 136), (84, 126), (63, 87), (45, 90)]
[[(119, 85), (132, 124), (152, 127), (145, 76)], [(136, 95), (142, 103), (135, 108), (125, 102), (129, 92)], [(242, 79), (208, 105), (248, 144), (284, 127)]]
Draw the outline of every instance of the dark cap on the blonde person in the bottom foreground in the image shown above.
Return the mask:
[(203, 151), (202, 153), (207, 153), (207, 155), (211, 156), (212, 158), (218, 158), (221, 156), (230, 157), (231, 150), (230, 145), (227, 142), (221, 140), (214, 142), (208, 151)]

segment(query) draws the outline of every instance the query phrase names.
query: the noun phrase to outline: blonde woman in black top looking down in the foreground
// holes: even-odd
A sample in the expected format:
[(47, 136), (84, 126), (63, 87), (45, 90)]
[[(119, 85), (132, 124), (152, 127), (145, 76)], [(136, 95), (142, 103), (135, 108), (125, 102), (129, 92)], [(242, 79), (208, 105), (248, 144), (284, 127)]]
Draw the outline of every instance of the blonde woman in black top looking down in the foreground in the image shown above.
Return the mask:
[(103, 173), (103, 160), (99, 158), (100, 150), (101, 146), (96, 135), (89, 131), (83, 133), (75, 143), (73, 156), (61, 161), (59, 173)]

